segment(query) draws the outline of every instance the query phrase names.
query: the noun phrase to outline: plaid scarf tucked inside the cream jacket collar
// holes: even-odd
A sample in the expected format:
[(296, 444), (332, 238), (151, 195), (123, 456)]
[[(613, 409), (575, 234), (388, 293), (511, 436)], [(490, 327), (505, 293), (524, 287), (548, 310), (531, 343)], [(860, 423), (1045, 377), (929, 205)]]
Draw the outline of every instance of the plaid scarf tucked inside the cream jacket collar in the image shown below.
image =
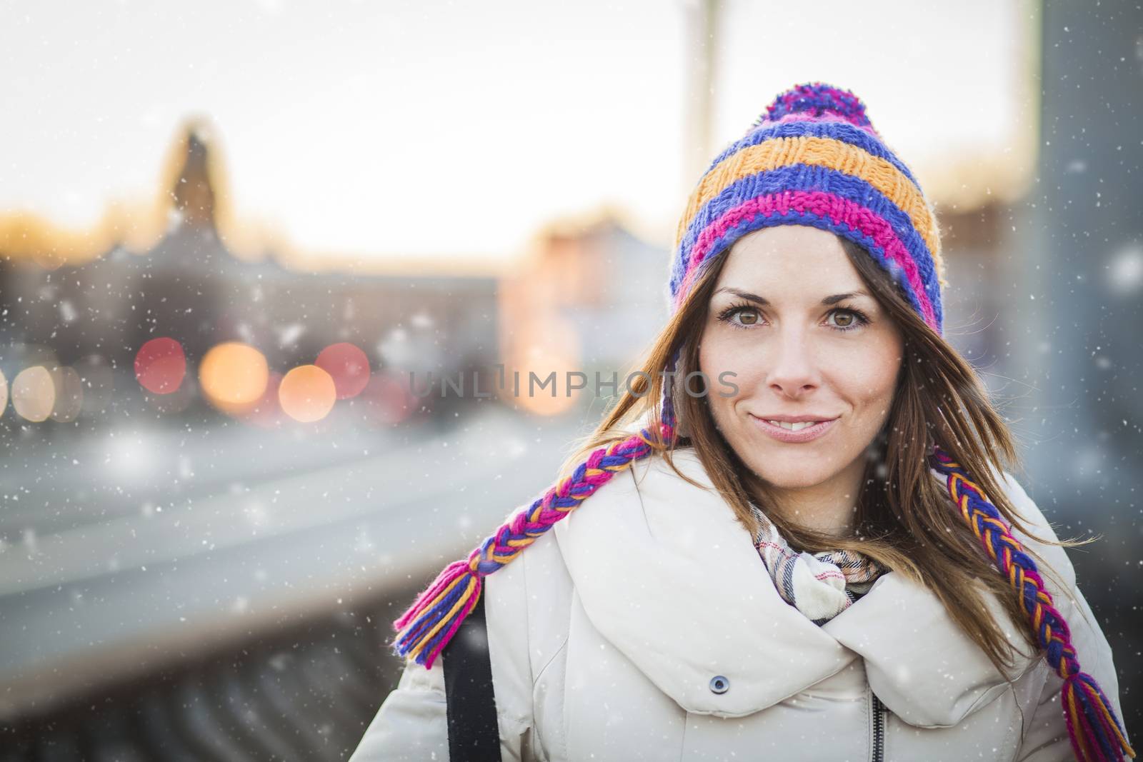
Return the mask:
[(760, 529), (754, 547), (786, 603), (816, 625), (823, 625), (869, 592), (885, 567), (852, 551), (798, 553), (758, 506), (751, 504)]

